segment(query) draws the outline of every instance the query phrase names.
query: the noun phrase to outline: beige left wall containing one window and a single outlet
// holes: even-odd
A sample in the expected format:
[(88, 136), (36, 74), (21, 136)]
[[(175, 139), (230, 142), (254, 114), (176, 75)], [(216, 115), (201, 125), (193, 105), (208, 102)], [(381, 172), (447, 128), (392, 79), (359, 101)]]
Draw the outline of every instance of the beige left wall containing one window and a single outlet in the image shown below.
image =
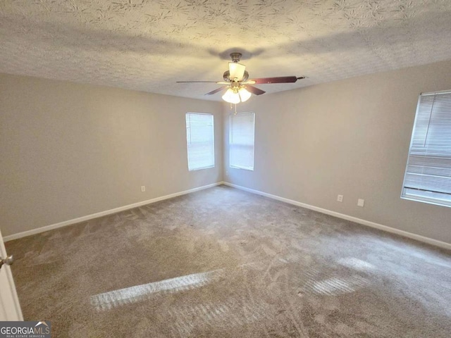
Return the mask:
[[(0, 75), (2, 234), (220, 182), (222, 109), (218, 102)], [(215, 168), (187, 170), (187, 111), (215, 115)]]

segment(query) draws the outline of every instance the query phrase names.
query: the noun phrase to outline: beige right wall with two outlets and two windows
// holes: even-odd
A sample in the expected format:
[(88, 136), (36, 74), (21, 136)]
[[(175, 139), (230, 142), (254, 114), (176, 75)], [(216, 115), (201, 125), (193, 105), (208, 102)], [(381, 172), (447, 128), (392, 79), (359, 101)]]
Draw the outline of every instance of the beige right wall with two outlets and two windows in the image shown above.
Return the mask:
[(252, 97), (238, 107), (256, 113), (254, 171), (228, 167), (227, 111), (224, 178), (451, 243), (451, 208), (400, 199), (418, 96), (450, 74), (447, 61)]

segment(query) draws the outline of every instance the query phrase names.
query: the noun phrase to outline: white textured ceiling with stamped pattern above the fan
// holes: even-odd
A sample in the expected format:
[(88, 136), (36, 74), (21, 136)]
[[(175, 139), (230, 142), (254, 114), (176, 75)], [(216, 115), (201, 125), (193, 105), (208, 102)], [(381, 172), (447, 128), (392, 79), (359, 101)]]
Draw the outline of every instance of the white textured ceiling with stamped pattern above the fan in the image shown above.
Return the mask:
[(450, 0), (0, 0), (0, 72), (203, 96), (228, 54), (280, 92), (451, 59)]

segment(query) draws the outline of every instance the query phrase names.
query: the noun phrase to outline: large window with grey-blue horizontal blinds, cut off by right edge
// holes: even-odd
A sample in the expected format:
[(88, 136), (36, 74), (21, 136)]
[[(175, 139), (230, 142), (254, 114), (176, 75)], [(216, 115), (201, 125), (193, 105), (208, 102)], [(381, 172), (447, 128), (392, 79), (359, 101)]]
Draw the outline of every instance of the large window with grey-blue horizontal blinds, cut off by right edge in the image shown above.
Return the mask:
[(419, 97), (401, 197), (451, 206), (451, 91)]

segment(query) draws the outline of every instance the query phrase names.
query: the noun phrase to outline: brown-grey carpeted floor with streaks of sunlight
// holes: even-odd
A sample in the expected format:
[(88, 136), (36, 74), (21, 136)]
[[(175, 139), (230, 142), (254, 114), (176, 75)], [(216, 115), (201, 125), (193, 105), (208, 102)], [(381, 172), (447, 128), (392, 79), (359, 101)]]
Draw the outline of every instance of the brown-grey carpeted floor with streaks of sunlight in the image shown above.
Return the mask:
[(52, 337), (451, 332), (450, 251), (225, 186), (6, 247)]

